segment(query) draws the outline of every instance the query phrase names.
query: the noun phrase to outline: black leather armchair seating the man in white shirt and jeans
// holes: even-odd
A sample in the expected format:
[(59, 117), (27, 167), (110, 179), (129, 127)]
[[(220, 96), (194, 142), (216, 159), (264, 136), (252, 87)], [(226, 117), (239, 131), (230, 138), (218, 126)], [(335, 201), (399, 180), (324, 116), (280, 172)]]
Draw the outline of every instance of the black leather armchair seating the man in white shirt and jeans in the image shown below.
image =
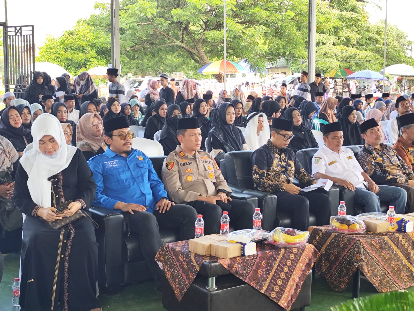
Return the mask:
[[(344, 146), (349, 148), (354, 152), (355, 158), (358, 159), (358, 153), (361, 150), (362, 146)], [(318, 148), (309, 148), (303, 149), (296, 152), (296, 156), (298, 160), (301, 162), (303, 168), (309, 174), (312, 173), (312, 159), (313, 155), (318, 151)], [(347, 214), (350, 215), (358, 215), (361, 213), (365, 213), (364, 207), (361, 204), (354, 203), (354, 191), (349, 189), (345, 189), (342, 186), (335, 184), (335, 187), (339, 188), (339, 197), (340, 201), (345, 201), (345, 205), (347, 207)], [(388, 211), (389, 202), (380, 202), (380, 209), (383, 213)]]

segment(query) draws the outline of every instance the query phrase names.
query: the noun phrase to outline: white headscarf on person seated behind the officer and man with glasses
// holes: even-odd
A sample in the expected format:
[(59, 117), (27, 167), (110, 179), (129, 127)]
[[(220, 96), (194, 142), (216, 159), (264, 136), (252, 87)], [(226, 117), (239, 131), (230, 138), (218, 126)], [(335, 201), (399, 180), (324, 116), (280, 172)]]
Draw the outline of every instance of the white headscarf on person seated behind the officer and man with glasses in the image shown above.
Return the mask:
[[(263, 117), (265, 129), (257, 134), (258, 130), (258, 119)], [(243, 133), (244, 139), (246, 140), (247, 146), (250, 150), (256, 150), (263, 146), (270, 138), (269, 122), (267, 121), (266, 114), (260, 112), (259, 114), (253, 113), (247, 117), (247, 126)]]

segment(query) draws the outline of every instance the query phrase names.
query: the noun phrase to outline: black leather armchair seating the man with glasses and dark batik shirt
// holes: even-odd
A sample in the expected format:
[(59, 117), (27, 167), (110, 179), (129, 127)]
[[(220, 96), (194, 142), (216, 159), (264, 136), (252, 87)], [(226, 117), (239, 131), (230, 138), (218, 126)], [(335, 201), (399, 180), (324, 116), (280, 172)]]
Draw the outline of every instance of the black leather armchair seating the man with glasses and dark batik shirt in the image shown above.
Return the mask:
[[(293, 213), (277, 210), (277, 196), (267, 192), (253, 190), (252, 166), (250, 155), (253, 151), (232, 151), (224, 155), (225, 175), (229, 187), (244, 194), (254, 195), (259, 200), (259, 207), (263, 215), (262, 228), (268, 231), (276, 227), (293, 228)], [(222, 161), (221, 161), (222, 165)], [(221, 170), (223, 168), (221, 167)], [(296, 185), (300, 183), (296, 180)], [(328, 192), (331, 197), (331, 212), (336, 215), (339, 205), (339, 189), (332, 187)], [(273, 220), (274, 219), (274, 220)], [(310, 213), (309, 225), (316, 225), (315, 215)]]

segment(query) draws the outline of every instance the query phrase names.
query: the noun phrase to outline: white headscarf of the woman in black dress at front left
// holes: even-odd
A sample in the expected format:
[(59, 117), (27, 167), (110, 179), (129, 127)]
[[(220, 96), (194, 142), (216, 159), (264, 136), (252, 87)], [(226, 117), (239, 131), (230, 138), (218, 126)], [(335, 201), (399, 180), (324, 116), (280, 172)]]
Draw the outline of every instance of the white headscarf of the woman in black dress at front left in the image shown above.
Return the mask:
[[(65, 135), (59, 120), (52, 114), (41, 114), (31, 126), (33, 149), (24, 153), (20, 164), (29, 179), (27, 186), (31, 199), (41, 207), (51, 207), (51, 182), (48, 178), (69, 166), (76, 147), (66, 144)], [(53, 156), (40, 152), (39, 141), (45, 135), (51, 135), (58, 142), (59, 149)]]

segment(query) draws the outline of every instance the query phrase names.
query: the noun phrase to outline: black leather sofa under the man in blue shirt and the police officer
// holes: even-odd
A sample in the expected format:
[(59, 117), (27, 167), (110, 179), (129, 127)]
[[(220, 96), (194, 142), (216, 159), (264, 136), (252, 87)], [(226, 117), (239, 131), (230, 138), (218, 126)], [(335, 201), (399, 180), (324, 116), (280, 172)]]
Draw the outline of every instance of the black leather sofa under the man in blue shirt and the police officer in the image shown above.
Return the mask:
[[(164, 156), (151, 158), (160, 178), (164, 158)], [(233, 192), (231, 197), (246, 198), (258, 207), (258, 199), (250, 194)], [(151, 280), (152, 276), (142, 255), (137, 234), (130, 232), (123, 214), (104, 207), (91, 207), (90, 211), (92, 218), (99, 225), (95, 234), (99, 244), (98, 284), (100, 291), (116, 294), (120, 292), (123, 284)], [(160, 234), (164, 243), (179, 240), (178, 230), (160, 228)]]

